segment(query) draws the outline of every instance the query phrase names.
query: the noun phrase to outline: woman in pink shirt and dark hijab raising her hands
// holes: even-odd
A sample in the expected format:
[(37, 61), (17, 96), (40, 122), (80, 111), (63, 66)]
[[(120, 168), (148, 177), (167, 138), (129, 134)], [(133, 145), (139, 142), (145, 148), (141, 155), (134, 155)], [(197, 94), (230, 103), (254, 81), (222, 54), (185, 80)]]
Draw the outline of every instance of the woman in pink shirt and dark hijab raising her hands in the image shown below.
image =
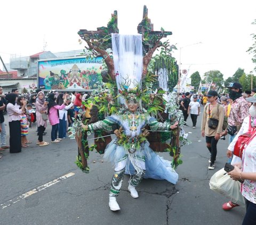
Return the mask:
[(49, 104), (48, 104), (48, 119), (52, 125), (52, 131), (51, 131), (51, 143), (59, 143), (60, 142), (60, 138), (57, 138), (58, 135), (58, 130), (59, 130), (59, 110), (62, 110), (65, 108), (65, 104), (67, 102), (67, 98), (65, 96), (65, 98), (63, 99), (63, 103), (62, 105), (58, 105), (55, 100), (55, 94), (51, 93), (48, 96), (49, 98)]

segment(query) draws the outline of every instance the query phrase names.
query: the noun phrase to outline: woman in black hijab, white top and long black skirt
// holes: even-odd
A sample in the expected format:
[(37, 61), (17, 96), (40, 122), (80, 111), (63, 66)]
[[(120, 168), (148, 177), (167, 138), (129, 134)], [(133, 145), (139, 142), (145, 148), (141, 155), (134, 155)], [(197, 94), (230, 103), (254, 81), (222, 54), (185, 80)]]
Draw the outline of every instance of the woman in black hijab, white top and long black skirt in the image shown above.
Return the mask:
[(7, 94), (6, 99), (8, 101), (6, 111), (10, 128), (10, 153), (19, 153), (21, 152), (20, 120), (22, 118), (21, 115), (25, 112), (27, 102), (23, 101), (22, 107), (19, 109), (19, 105), (16, 104), (16, 94)]

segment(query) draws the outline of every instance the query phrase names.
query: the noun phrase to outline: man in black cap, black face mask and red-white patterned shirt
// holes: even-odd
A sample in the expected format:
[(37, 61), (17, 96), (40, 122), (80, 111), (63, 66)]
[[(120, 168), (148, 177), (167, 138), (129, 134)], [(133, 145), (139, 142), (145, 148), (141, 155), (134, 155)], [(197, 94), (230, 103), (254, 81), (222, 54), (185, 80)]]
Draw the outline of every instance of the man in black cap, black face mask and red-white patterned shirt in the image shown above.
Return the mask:
[[(241, 84), (238, 82), (230, 83), (226, 88), (229, 89), (229, 97), (232, 99), (233, 103), (228, 116), (228, 127), (222, 132), (221, 136), (229, 134), (230, 144), (241, 128), (244, 118), (249, 115), (249, 105), (242, 95)], [(232, 153), (230, 152), (229, 158), (231, 157)]]

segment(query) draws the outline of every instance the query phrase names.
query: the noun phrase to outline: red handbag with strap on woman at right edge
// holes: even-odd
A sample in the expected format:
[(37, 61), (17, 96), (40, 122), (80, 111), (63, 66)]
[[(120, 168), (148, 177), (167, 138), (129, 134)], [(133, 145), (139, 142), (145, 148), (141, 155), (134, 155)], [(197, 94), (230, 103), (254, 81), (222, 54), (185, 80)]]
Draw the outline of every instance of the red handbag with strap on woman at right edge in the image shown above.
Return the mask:
[(238, 137), (235, 147), (234, 147), (234, 155), (240, 157), (242, 159), (242, 155), (245, 147), (251, 142), (256, 134), (256, 129), (252, 127), (251, 124), (251, 116), (249, 119), (249, 129), (245, 134), (242, 134)]

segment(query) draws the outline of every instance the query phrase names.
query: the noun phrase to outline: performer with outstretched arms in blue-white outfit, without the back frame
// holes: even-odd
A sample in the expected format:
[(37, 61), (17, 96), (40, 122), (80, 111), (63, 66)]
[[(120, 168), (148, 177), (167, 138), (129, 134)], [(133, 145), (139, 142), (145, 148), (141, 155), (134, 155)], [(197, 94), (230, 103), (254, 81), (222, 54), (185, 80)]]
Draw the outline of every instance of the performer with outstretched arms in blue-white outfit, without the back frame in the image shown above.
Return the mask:
[[(128, 190), (133, 198), (138, 198), (137, 187), (143, 175), (147, 178), (166, 179), (172, 184), (178, 181), (178, 174), (171, 167), (171, 162), (162, 160), (151, 148), (146, 139), (148, 131), (144, 127), (148, 124), (153, 131), (170, 130), (178, 127), (178, 121), (173, 125), (167, 122), (157, 122), (145, 109), (139, 105), (139, 93), (129, 91), (125, 98), (127, 108), (123, 107), (119, 113), (108, 116), (102, 121), (89, 125), (82, 125), (84, 130), (103, 129), (112, 131), (114, 124), (121, 127), (115, 130), (117, 136), (105, 150), (104, 158), (115, 165), (115, 173), (111, 180), (109, 193), (109, 207), (112, 211), (120, 210), (116, 201), (124, 179), (125, 167), (129, 164), (135, 169), (134, 176), (129, 180)], [(122, 130), (123, 129), (123, 130)]]

